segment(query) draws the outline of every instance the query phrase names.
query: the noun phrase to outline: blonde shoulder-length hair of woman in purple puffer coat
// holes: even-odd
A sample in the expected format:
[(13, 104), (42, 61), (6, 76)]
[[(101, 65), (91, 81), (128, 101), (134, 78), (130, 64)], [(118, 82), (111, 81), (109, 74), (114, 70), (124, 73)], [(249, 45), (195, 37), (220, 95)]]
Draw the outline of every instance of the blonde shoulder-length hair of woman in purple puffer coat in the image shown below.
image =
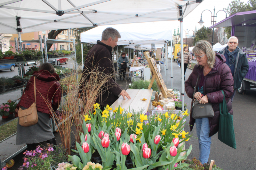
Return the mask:
[(193, 53), (199, 54), (201, 53), (200, 50), (207, 55), (207, 64), (213, 69), (213, 65), (215, 63), (215, 52), (213, 51), (210, 42), (204, 40), (196, 42), (196, 45), (193, 48)]

